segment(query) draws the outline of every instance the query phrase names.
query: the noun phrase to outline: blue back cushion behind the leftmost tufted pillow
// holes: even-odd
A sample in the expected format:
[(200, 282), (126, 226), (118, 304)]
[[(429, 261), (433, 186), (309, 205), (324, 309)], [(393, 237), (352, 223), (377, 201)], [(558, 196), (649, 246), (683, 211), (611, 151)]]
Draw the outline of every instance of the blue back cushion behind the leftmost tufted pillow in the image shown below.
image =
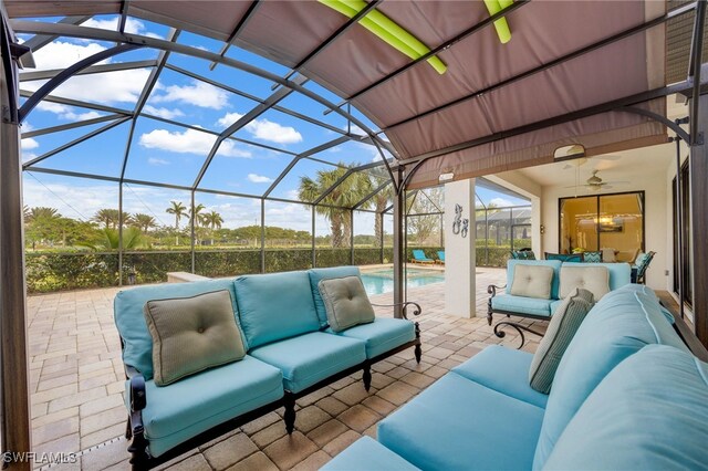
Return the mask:
[[(143, 307), (152, 300), (167, 300), (174, 297), (189, 297), (212, 291), (228, 290), (231, 300), (236, 301), (233, 280), (208, 280), (191, 283), (166, 283), (152, 286), (138, 286), (119, 291), (113, 302), (115, 325), (125, 343), (123, 348), (123, 362), (131, 365), (145, 376), (153, 377), (153, 337), (147, 329)], [(233, 312), (238, 312), (236, 302)], [(238, 323), (238, 316), (236, 317)], [(246, 337), (242, 337), (243, 346), (248, 348)]]

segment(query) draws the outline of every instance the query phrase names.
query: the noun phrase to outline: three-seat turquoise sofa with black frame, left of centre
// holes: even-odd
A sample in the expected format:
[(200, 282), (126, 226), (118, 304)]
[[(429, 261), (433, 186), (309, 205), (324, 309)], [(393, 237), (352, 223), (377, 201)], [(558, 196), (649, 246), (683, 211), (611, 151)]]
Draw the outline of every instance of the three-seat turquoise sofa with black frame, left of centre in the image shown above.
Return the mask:
[[(281, 406), (291, 433), (298, 398), (357, 370), (368, 390), (372, 364), (404, 348), (415, 348), (420, 362), (418, 324), (405, 318), (376, 317), (340, 333), (329, 328), (317, 283), (358, 274), (356, 266), (342, 266), (121, 291), (114, 308), (127, 377), (133, 467), (158, 465)], [(220, 290), (231, 295), (246, 357), (156, 386), (144, 305)], [(404, 317), (408, 306), (420, 313), (416, 303), (404, 304)]]

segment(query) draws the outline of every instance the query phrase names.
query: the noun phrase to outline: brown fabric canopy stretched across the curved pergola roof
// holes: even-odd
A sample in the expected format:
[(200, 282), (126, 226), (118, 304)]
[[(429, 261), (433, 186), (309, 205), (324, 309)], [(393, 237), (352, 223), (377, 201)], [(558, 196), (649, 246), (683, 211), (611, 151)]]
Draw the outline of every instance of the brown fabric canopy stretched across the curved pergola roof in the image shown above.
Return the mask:
[[(121, 13), (125, 7), (128, 15), (220, 41), (239, 31), (235, 44), (291, 67), (348, 21), (316, 1), (251, 6), (238, 1), (6, 1), (10, 18)], [(489, 18), (479, 1), (382, 1), (376, 9), (431, 50)], [(423, 61), (361, 94), (412, 60), (356, 24), (301, 72), (344, 98), (354, 95), (352, 105), (385, 132), (399, 159), (413, 164), (435, 153), (409, 184), (430, 186), (437, 185), (440, 172), (454, 172), (459, 179), (546, 164), (558, 147), (570, 144), (582, 144), (587, 155), (595, 155), (666, 142), (663, 125), (612, 112), (454, 147), (665, 85), (663, 23), (497, 86), (665, 13), (666, 3), (659, 1), (534, 0), (507, 14), (509, 43), (499, 41), (493, 27), (480, 29), (437, 54), (447, 65), (444, 74)], [(665, 114), (664, 98), (642, 106)]]

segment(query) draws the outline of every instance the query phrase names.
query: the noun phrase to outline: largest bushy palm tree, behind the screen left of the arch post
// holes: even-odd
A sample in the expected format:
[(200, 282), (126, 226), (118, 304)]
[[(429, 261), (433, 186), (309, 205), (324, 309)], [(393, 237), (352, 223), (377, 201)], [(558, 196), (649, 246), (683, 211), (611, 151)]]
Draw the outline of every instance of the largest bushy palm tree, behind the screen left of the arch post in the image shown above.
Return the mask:
[[(300, 199), (314, 202), (321, 195), (329, 191), (347, 171), (343, 163), (340, 163), (340, 165), (341, 167), (334, 170), (319, 170), (316, 180), (310, 177), (301, 177), (298, 191)], [(351, 233), (352, 218), (351, 211), (345, 208), (352, 208), (371, 191), (372, 181), (368, 175), (357, 171), (333, 188), (321, 201), (331, 206), (316, 207), (317, 213), (330, 221), (332, 247), (348, 247), (350, 240), (345, 234)]]

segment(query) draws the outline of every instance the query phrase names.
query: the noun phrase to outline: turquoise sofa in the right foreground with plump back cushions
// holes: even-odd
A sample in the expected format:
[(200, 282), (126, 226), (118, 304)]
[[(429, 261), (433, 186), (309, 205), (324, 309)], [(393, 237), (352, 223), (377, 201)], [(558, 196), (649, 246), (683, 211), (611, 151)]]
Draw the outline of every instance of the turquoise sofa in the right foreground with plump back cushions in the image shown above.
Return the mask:
[(587, 314), (550, 395), (529, 386), (532, 354), (489, 346), (323, 469), (705, 470), (708, 364), (671, 320), (623, 286)]

